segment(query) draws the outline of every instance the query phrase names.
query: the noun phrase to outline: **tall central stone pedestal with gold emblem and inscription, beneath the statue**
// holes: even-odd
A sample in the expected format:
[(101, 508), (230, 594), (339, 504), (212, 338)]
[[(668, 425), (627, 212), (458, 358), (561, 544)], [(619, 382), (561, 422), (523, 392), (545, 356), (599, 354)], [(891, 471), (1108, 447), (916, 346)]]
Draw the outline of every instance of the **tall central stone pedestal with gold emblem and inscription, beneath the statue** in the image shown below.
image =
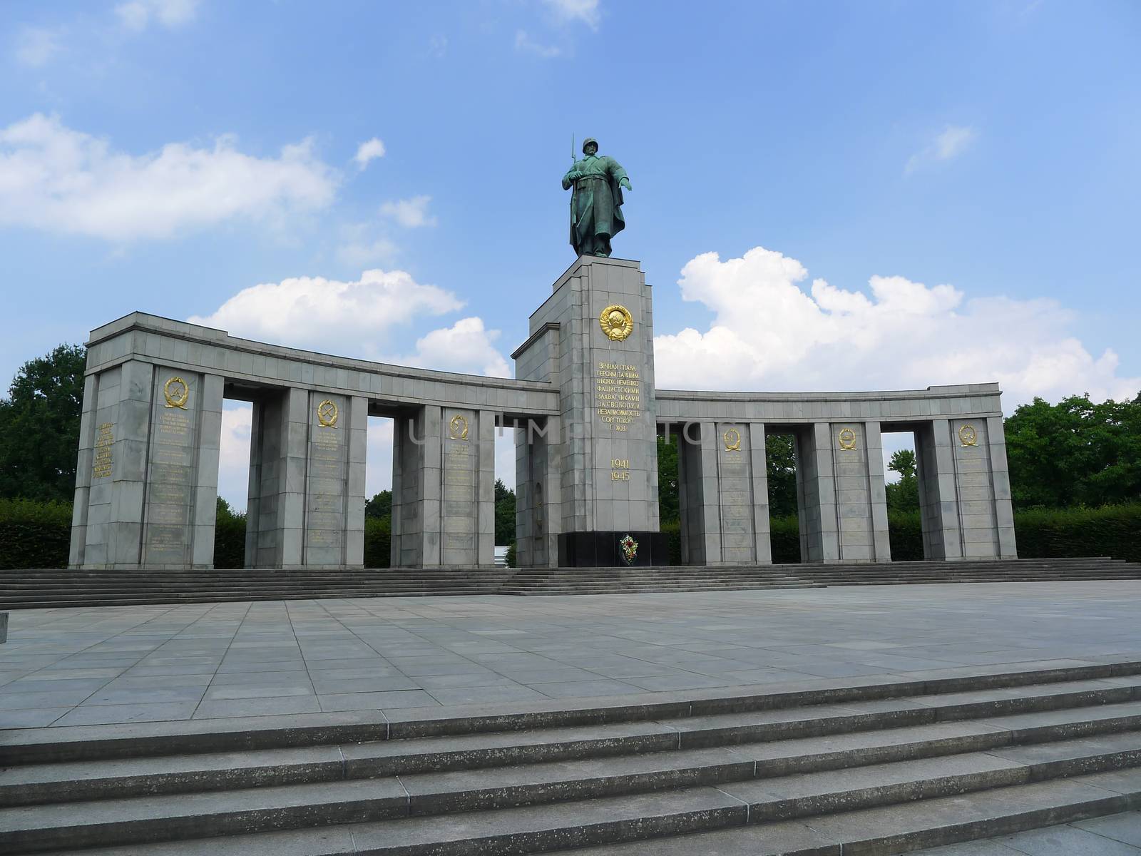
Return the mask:
[[(665, 564), (657, 516), (654, 325), (650, 290), (637, 261), (581, 257), (531, 316), (531, 338), (513, 355), (523, 380), (557, 383), (560, 446), (557, 534), (560, 565), (623, 565), (618, 541), (639, 543), (634, 565)], [(535, 478), (550, 460), (545, 445), (523, 445), (518, 469), (528, 479), (524, 531), (551, 532), (551, 483)], [(542, 458), (541, 458), (542, 457)], [(545, 496), (540, 522), (536, 496)], [(537, 527), (536, 527), (537, 524)], [(543, 547), (526, 548), (532, 562)], [(550, 544), (543, 564), (550, 564)]]

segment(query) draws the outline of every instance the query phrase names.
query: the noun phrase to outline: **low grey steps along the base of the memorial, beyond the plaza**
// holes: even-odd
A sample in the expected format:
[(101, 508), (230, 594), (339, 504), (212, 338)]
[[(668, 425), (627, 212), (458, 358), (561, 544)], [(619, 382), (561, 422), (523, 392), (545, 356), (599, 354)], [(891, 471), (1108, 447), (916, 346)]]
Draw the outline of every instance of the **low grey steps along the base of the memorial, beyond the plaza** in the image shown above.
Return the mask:
[(1141, 580), (1107, 557), (847, 565), (362, 571), (0, 571), (0, 609), (453, 595), (617, 595), (823, 586)]

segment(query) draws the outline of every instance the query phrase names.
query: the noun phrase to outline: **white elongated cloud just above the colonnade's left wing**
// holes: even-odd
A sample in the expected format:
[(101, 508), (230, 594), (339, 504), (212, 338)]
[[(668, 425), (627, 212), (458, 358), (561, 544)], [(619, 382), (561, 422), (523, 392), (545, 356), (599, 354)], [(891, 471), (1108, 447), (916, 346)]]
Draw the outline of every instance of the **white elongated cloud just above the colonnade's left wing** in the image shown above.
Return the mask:
[[(367, 350), (367, 344), (389, 328), (462, 306), (451, 291), (421, 284), (404, 270), (375, 269), (351, 282), (297, 276), (261, 283), (237, 292), (210, 315), (189, 321), (275, 345), (345, 353), (348, 342), (365, 344)], [(337, 331), (332, 340), (331, 330)]]

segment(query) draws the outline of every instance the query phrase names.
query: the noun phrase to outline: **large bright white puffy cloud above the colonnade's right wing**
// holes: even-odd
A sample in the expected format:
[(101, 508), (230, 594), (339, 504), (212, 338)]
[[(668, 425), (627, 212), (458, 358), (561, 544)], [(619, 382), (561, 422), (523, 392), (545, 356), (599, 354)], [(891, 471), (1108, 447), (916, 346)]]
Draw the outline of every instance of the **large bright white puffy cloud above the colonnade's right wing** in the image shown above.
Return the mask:
[(713, 313), (704, 332), (654, 340), (659, 386), (674, 389), (860, 390), (997, 380), (1008, 409), (1035, 395), (1136, 395), (1112, 350), (1091, 354), (1054, 300), (968, 298), (952, 285), (872, 276), (866, 291), (804, 289), (796, 259), (756, 247), (681, 272), (683, 300)]

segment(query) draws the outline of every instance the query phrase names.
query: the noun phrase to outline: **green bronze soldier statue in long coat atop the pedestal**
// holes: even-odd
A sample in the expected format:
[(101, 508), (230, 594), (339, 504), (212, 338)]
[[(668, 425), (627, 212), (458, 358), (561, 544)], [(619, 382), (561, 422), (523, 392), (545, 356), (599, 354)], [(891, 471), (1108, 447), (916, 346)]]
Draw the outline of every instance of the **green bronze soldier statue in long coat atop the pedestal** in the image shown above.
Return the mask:
[(583, 159), (563, 176), (563, 189), (570, 196), (570, 245), (580, 256), (609, 256), (610, 239), (626, 227), (622, 217), (622, 188), (628, 191), (626, 171), (613, 158), (598, 155), (598, 140), (586, 137)]

